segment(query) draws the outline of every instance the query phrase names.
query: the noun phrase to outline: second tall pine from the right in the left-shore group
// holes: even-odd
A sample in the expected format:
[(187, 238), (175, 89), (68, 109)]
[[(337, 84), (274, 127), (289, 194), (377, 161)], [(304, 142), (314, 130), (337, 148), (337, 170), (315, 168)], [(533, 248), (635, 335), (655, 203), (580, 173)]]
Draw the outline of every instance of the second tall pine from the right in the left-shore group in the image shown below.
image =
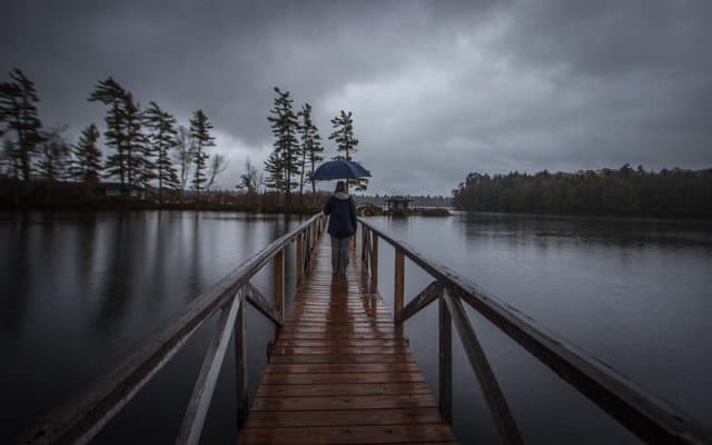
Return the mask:
[(158, 201), (164, 201), (164, 189), (179, 187), (178, 171), (170, 159), (170, 151), (178, 146), (176, 118), (161, 110), (154, 101), (144, 112), (145, 125), (149, 128), (148, 140), (155, 155), (156, 179), (158, 179)]

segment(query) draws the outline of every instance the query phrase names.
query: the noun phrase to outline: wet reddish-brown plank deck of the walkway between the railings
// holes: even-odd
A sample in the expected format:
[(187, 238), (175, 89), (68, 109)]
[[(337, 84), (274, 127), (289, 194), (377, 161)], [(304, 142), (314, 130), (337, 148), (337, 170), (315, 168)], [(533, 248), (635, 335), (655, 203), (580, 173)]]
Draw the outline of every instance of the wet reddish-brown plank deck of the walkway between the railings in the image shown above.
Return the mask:
[(360, 260), (330, 270), (322, 237), (239, 444), (455, 443)]

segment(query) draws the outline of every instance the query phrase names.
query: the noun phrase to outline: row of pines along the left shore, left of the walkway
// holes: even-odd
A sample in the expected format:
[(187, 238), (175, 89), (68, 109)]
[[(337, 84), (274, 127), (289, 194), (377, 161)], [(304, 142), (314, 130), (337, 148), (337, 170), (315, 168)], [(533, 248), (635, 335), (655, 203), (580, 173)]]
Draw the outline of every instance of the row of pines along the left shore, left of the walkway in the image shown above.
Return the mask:
[(215, 146), (212, 123), (201, 109), (189, 127), (155, 101), (141, 108), (134, 95), (113, 78), (99, 81), (87, 99), (106, 107), (103, 131), (107, 156), (100, 148), (101, 132), (88, 125), (73, 144), (63, 136), (66, 127), (43, 128), (34, 83), (20, 70), (0, 83), (0, 174), (23, 182), (116, 179), (121, 189), (152, 187), (162, 201), (167, 190), (209, 190), (226, 165), (221, 155), (210, 156)]

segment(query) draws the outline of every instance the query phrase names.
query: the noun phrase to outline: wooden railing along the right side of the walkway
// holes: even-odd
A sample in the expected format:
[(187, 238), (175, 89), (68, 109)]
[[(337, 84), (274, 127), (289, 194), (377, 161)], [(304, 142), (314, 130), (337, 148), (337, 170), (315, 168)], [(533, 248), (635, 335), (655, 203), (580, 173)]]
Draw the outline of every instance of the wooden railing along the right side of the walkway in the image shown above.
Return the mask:
[[(406, 243), (396, 240), (364, 219), (359, 218), (359, 222), (360, 257), (374, 284), (378, 283), (378, 240), (383, 239), (395, 249), (396, 324), (403, 324), (431, 303), (438, 300), (439, 409), (448, 423), (452, 423), (453, 406), (454, 325), (494, 418), (501, 442), (523, 443), (496, 376), (467, 317), (463, 305), (465, 303), (641, 439), (664, 444), (712, 443), (706, 429), (670, 403), (645, 392), (615, 369), (550, 333), (525, 314), (462, 278), (446, 266), (428, 259)], [(406, 257), (434, 278), (407, 305)]]

